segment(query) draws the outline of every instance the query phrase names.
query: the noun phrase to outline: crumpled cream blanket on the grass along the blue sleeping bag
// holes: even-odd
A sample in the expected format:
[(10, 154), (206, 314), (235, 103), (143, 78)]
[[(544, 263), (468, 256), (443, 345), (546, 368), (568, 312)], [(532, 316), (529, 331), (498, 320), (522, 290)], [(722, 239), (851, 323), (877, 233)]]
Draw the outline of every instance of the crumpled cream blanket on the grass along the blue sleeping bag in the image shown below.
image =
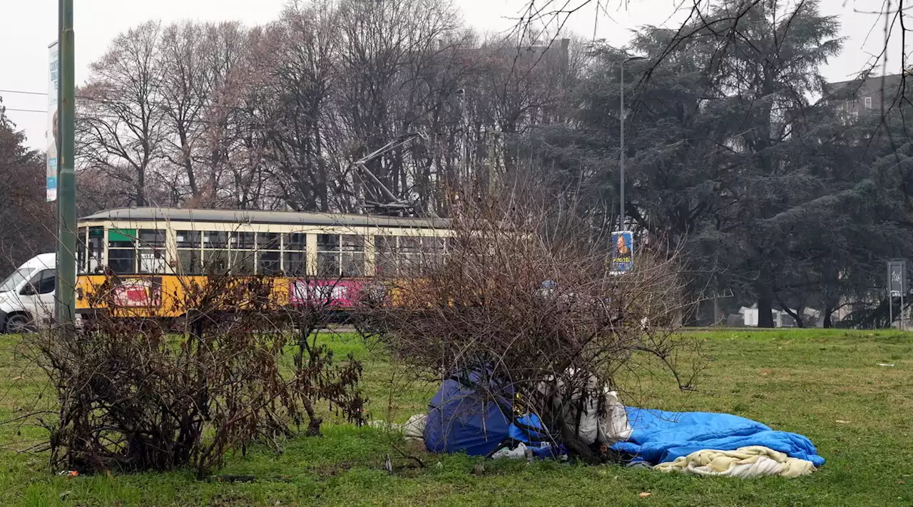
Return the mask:
[(812, 473), (814, 465), (811, 461), (790, 458), (770, 448), (749, 446), (736, 450), (698, 450), (675, 461), (660, 463), (654, 470), (750, 479), (766, 475), (800, 477)]

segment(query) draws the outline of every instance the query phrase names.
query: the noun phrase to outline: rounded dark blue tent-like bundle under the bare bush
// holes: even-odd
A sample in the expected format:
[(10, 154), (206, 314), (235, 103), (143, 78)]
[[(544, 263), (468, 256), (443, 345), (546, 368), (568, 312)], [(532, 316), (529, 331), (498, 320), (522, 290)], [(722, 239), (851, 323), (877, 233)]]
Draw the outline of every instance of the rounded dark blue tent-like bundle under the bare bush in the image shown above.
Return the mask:
[[(488, 385), (489, 393), (477, 393)], [(431, 452), (463, 452), (470, 456), (486, 456), (509, 438), (510, 398), (512, 391), (503, 391), (484, 379), (479, 372), (454, 375), (441, 384), (429, 404), (425, 424), (425, 447)]]

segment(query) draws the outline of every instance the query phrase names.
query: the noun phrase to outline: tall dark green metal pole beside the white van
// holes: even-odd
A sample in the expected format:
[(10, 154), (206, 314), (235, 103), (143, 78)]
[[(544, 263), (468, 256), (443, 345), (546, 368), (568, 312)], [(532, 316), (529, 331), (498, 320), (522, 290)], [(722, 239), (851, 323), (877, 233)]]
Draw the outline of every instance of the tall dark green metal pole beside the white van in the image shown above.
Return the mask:
[(63, 336), (73, 329), (76, 315), (76, 75), (73, 37), (73, 0), (59, 0), (60, 87), (58, 119), (58, 324)]

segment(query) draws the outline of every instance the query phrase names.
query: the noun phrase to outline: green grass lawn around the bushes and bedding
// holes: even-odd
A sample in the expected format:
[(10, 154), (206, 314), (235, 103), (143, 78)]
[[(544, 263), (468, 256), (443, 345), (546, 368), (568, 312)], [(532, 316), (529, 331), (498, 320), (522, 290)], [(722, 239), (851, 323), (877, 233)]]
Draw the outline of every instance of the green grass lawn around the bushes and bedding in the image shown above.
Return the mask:
[[(477, 459), (425, 455), (425, 469), (391, 476), (383, 470), (389, 435), (331, 424), (324, 437), (291, 440), (280, 455), (253, 449), (233, 456), (220, 472), (253, 475), (252, 483), (200, 482), (190, 471), (67, 479), (47, 470), (47, 456), (0, 451), (0, 505), (913, 505), (913, 335), (694, 334), (712, 357), (697, 392), (680, 393), (666, 378), (629, 378), (630, 388), (643, 396), (626, 401), (728, 412), (802, 433), (827, 459), (822, 469), (801, 479), (742, 481), (498, 461), (476, 475)], [(11, 389), (21, 372), (9, 354), (16, 339), (0, 340), (5, 419), (17, 413), (24, 395)], [(365, 359), (373, 417), (390, 417), (387, 407), (399, 420), (424, 410), (435, 386), (404, 384), (399, 368), (354, 338), (336, 337), (332, 344)], [(0, 428), (0, 446), (16, 438), (23, 436)], [(639, 498), (641, 492), (651, 494)]]

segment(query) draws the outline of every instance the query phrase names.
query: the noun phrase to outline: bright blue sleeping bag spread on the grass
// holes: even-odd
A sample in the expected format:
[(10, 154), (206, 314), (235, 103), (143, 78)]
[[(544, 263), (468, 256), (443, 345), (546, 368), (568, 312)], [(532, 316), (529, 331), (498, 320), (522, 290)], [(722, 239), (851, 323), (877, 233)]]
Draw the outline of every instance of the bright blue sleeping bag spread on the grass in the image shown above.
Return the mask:
[(764, 446), (791, 458), (812, 461), (815, 467), (824, 465), (824, 458), (818, 456), (808, 438), (774, 431), (745, 417), (634, 407), (625, 409), (628, 423), (634, 431), (631, 438), (614, 444), (612, 449), (634, 454), (635, 461), (643, 460), (656, 465), (702, 449), (735, 450)]

